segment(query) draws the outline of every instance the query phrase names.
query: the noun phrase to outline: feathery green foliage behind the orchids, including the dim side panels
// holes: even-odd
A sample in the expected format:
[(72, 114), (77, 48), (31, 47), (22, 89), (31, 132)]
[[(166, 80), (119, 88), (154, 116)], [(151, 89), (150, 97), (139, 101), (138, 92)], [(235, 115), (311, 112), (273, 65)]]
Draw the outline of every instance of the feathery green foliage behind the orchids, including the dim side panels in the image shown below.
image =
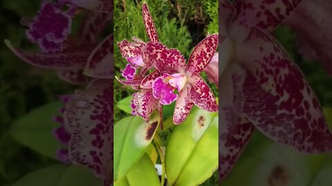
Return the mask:
[[(35, 50), (35, 45), (28, 42), (25, 29), (19, 22), (21, 17), (33, 17), (39, 9), (40, 2), (40, 0), (0, 1), (0, 185), (3, 186), (11, 185), (28, 172), (57, 163), (12, 139), (8, 133), (10, 123), (36, 107), (57, 100), (58, 94), (71, 93), (75, 89), (57, 79), (54, 72), (33, 68), (24, 63), (2, 43), (3, 39), (9, 39), (15, 46)], [(115, 41), (131, 39), (132, 36), (147, 41), (141, 18), (142, 2), (125, 0), (114, 2), (116, 3)], [(211, 8), (217, 6), (215, 1), (163, 0), (147, 1), (147, 3), (156, 22), (160, 41), (181, 50), (186, 59), (194, 45), (208, 32), (214, 33), (218, 30), (216, 12)], [(208, 30), (205, 30), (207, 27)], [(332, 77), (326, 74), (317, 61), (306, 61), (297, 54), (295, 34), (291, 30), (281, 27), (275, 31), (275, 35), (304, 72), (320, 103), (325, 107), (331, 107)], [(126, 61), (122, 59), (116, 47), (114, 57), (116, 75), (120, 76), (119, 70), (124, 67)], [(115, 82), (115, 101), (129, 94), (131, 91), (127, 87)], [(124, 112), (115, 110), (116, 121), (124, 115)], [(211, 181), (210, 185), (214, 181)]]

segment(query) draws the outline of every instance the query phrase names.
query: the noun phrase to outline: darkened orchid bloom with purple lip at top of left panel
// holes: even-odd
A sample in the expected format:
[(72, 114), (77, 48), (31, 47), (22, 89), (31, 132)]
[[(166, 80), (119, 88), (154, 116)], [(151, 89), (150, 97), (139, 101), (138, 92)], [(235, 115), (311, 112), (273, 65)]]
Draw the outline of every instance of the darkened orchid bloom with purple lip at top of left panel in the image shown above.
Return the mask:
[(89, 11), (82, 21), (78, 37), (71, 38), (68, 34), (77, 8), (69, 5), (68, 10), (63, 10), (66, 7), (62, 3), (44, 1), (38, 16), (33, 21), (24, 21), (28, 26), (28, 39), (38, 43), (42, 52), (20, 50), (9, 41), (5, 41), (6, 45), (26, 63), (57, 70), (59, 77), (69, 83), (89, 83), (89, 76), (111, 78), (113, 34), (100, 44), (96, 41), (105, 25), (111, 21), (111, 14)]

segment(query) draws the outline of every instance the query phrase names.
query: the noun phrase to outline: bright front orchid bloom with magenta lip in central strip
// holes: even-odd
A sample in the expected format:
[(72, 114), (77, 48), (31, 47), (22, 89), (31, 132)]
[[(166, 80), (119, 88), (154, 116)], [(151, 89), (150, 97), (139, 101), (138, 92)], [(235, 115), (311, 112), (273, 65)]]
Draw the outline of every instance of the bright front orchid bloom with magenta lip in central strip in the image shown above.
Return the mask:
[(156, 70), (143, 79), (141, 87), (152, 90), (154, 98), (151, 97), (150, 102), (169, 105), (176, 100), (173, 116), (175, 124), (183, 122), (194, 105), (210, 112), (218, 111), (210, 87), (199, 75), (210, 63), (217, 46), (218, 34), (206, 37), (196, 45), (185, 64), (178, 50), (169, 50), (161, 43), (147, 43), (148, 58), (154, 61)]

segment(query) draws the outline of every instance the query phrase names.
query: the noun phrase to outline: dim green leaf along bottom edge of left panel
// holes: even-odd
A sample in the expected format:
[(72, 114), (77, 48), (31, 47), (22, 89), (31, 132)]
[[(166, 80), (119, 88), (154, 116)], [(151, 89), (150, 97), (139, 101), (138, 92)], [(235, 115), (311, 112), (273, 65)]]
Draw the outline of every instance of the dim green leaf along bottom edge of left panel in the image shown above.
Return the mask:
[(102, 186), (102, 180), (79, 165), (52, 165), (31, 172), (17, 180), (12, 186)]

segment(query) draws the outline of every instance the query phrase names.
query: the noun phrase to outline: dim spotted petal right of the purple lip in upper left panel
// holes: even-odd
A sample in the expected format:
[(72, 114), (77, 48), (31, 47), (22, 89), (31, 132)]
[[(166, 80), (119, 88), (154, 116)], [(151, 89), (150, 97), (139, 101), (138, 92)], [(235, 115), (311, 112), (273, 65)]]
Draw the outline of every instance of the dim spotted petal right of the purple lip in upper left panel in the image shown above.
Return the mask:
[(112, 18), (112, 14), (95, 11), (88, 12), (81, 23), (79, 38), (85, 42), (96, 42)]

